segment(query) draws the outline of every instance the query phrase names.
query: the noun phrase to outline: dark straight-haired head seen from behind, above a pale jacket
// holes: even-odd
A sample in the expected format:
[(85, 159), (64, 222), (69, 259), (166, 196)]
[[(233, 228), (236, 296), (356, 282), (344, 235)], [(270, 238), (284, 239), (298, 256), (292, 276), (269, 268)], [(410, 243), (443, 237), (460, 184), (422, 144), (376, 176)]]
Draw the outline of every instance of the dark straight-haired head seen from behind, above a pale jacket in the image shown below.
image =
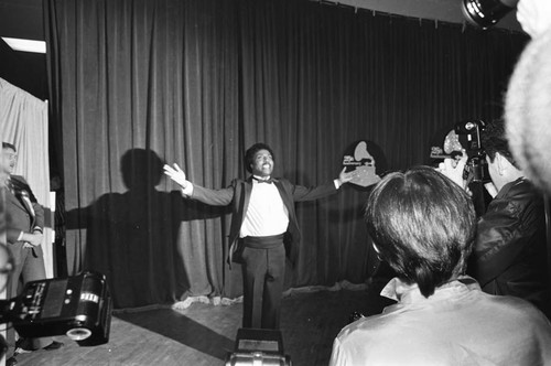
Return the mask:
[(381, 259), (424, 297), (465, 272), (475, 211), (468, 194), (434, 169), (385, 176), (369, 195), (366, 222)]

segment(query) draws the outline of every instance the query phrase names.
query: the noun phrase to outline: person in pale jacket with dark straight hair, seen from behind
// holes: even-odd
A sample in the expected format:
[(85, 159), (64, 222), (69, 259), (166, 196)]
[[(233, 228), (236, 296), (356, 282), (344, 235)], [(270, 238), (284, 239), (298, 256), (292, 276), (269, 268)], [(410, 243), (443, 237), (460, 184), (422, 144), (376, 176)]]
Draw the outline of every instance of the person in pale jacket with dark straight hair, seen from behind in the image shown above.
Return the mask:
[(397, 272), (398, 303), (338, 334), (331, 365), (547, 365), (551, 324), (529, 302), (464, 276), (476, 230), (469, 195), (436, 170), (391, 173), (366, 208), (374, 246)]

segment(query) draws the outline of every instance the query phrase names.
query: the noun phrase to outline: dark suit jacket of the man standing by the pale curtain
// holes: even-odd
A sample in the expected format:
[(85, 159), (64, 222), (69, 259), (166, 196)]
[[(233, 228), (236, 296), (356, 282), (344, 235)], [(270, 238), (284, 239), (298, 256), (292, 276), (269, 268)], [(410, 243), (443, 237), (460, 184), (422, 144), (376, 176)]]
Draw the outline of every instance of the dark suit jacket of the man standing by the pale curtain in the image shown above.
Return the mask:
[[(15, 245), (21, 232), (32, 233), (35, 227), (44, 228), (44, 209), (24, 177), (11, 175), (10, 180), (14, 194), (6, 190), (6, 228), (8, 244)], [(21, 241), (19, 244), (22, 245)]]

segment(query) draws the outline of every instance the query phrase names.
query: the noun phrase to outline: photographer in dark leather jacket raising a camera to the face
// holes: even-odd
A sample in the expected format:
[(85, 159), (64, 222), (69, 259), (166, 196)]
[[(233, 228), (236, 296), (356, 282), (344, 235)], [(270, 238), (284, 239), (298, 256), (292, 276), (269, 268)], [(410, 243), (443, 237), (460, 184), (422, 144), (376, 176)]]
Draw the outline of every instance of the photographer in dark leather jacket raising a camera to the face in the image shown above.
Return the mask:
[[(482, 146), (494, 198), (478, 219), (468, 272), (483, 291), (522, 298), (550, 317), (543, 197), (512, 158), (501, 120), (487, 125)], [(465, 189), (466, 161), (446, 159), (439, 170)]]

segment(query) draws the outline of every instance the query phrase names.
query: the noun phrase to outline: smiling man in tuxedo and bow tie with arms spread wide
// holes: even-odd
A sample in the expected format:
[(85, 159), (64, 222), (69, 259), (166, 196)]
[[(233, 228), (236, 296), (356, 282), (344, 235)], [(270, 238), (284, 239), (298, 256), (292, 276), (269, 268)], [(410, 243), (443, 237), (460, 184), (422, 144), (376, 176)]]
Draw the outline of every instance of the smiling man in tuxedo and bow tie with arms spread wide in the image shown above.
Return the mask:
[(228, 261), (241, 263), (244, 277), (244, 327), (278, 329), (285, 252), (291, 262), (299, 254), (300, 229), (294, 202), (331, 195), (354, 173), (343, 170), (337, 180), (316, 187), (294, 185), (285, 179), (272, 179), (273, 152), (264, 143), (255, 143), (245, 154), (247, 180), (234, 180), (222, 190), (209, 190), (186, 180), (174, 164), (164, 165), (165, 174), (182, 186), (184, 196), (203, 203), (231, 205)]

